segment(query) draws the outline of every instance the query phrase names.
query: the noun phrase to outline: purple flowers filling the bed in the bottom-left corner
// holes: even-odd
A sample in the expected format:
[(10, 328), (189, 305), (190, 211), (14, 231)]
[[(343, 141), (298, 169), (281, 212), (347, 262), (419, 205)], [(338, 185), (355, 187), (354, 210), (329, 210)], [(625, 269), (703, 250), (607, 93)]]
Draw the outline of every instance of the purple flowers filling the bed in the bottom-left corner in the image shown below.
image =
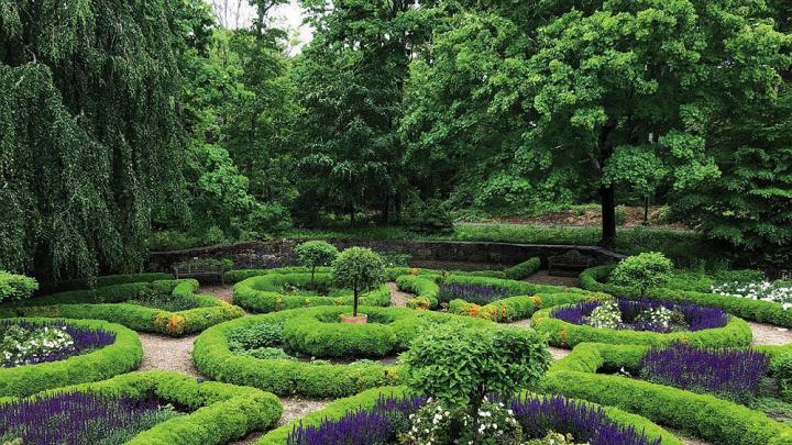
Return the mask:
[(0, 443), (111, 445), (128, 442), (180, 415), (154, 398), (108, 398), (87, 392), (20, 399), (0, 405)]

